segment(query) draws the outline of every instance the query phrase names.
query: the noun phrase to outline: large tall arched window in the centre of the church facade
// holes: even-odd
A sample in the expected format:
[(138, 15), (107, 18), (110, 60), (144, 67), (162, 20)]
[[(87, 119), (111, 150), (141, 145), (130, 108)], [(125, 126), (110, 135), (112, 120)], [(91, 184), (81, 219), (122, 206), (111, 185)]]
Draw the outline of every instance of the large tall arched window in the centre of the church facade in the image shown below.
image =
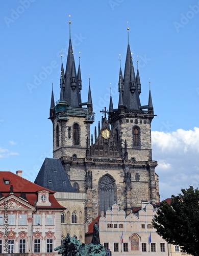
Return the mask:
[(116, 201), (115, 182), (111, 176), (105, 175), (99, 180), (98, 188), (99, 212), (106, 212)]

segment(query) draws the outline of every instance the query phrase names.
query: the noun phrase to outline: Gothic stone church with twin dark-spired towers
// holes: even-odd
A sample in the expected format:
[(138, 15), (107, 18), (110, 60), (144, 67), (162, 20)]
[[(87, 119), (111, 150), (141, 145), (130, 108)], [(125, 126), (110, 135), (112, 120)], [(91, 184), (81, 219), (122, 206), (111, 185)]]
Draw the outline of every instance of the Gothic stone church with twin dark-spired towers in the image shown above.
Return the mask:
[(152, 96), (150, 91), (148, 104), (141, 105), (139, 70), (135, 75), (129, 43), (125, 71), (119, 70), (117, 108), (110, 97), (109, 110), (103, 111), (94, 139), (90, 135), (94, 122), (90, 84), (87, 102), (82, 102), (81, 90), (81, 69), (79, 65), (76, 71), (69, 38), (66, 68), (61, 65), (60, 99), (55, 104), (52, 91), (49, 119), (53, 157), (61, 160), (73, 189), (87, 195), (85, 222), (91, 223), (115, 203), (129, 214), (143, 201), (159, 202), (157, 161), (152, 160), (151, 145)]

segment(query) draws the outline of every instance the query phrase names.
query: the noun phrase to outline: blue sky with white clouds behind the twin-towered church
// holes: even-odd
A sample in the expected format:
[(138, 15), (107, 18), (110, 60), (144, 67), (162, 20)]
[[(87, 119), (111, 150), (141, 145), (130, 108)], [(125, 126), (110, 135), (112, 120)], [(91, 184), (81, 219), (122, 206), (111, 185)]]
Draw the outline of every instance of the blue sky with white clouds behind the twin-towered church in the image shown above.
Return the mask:
[(117, 107), (119, 58), (123, 71), (129, 26), (135, 69), (139, 60), (142, 105), (147, 104), (151, 80), (157, 115), (152, 122), (153, 159), (159, 162), (161, 199), (198, 186), (199, 2), (192, 0), (2, 1), (0, 170), (21, 169), (24, 178), (34, 181), (44, 158), (53, 156), (47, 118), (52, 79), (59, 99), (68, 15), (76, 67), (81, 55), (83, 101), (90, 77), (96, 113), (91, 132), (101, 120), (99, 111), (109, 105), (110, 87)]

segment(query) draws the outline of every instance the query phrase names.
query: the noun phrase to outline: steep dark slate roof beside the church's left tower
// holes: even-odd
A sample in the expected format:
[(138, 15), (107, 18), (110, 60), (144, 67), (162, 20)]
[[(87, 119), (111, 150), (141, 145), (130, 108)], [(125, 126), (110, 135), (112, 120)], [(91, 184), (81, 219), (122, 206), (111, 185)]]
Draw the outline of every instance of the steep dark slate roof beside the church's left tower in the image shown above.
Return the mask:
[(59, 158), (45, 158), (34, 183), (56, 192), (75, 192)]

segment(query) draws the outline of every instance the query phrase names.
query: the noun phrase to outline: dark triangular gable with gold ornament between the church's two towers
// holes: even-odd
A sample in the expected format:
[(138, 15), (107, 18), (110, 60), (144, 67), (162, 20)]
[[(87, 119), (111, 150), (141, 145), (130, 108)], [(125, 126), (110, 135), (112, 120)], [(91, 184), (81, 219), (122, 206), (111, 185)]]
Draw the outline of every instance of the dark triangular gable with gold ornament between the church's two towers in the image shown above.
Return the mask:
[(95, 144), (91, 146), (91, 156), (114, 158), (120, 157), (118, 145), (115, 142), (106, 118), (103, 118), (102, 128), (95, 141)]

